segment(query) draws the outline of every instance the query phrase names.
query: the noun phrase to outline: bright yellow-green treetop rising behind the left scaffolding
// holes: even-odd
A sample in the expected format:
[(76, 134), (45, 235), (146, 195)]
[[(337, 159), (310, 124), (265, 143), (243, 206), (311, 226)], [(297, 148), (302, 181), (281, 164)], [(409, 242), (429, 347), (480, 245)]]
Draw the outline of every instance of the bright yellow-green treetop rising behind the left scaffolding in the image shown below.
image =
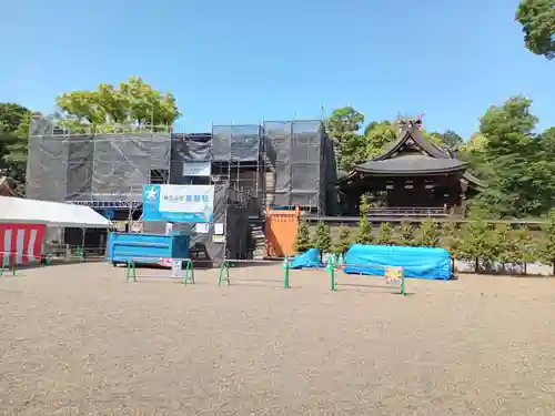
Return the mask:
[(171, 93), (152, 89), (140, 77), (130, 77), (119, 87), (100, 84), (95, 91), (64, 93), (57, 102), (77, 125), (172, 126), (181, 115)]

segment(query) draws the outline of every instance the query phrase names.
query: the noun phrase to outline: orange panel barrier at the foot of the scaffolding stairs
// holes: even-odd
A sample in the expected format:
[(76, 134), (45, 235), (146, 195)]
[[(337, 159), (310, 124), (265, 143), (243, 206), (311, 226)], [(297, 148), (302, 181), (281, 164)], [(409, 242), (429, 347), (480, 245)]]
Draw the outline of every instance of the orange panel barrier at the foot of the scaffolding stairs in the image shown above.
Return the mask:
[(295, 254), (293, 243), (299, 230), (301, 211), (271, 210), (266, 207), (266, 252), (269, 257)]

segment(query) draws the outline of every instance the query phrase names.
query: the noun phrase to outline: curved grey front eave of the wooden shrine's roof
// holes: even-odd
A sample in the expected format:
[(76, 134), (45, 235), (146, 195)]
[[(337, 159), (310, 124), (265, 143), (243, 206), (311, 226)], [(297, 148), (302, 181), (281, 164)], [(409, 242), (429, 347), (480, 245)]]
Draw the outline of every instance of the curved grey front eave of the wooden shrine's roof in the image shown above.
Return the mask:
[(458, 159), (431, 158), (424, 154), (411, 154), (386, 160), (373, 160), (354, 168), (357, 172), (390, 173), (433, 173), (452, 172), (466, 168), (467, 163)]

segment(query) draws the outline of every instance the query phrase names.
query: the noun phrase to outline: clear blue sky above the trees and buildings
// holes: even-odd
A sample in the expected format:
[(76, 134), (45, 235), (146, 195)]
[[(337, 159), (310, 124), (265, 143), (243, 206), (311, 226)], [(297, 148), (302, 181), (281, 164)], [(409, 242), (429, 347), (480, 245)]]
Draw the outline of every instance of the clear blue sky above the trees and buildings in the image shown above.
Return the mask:
[(426, 111), (470, 136), (523, 93), (555, 125), (555, 62), (524, 49), (517, 0), (28, 0), (0, 17), (0, 101), (44, 113), (71, 90), (130, 74), (172, 91), (178, 130)]

